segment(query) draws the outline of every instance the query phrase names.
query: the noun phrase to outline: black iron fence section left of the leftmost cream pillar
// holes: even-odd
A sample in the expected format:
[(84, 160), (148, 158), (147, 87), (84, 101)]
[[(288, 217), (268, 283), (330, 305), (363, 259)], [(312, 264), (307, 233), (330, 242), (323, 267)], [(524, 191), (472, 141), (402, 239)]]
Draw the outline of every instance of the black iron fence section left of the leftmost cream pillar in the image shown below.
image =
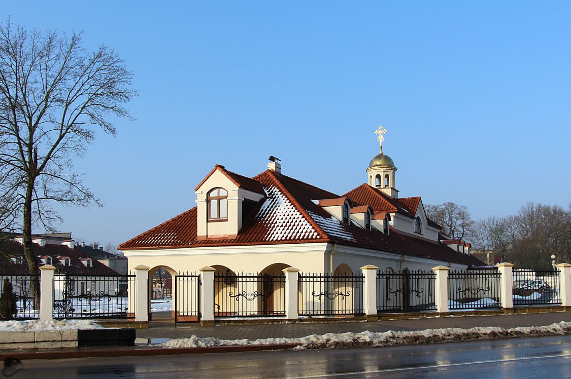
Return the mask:
[(39, 298), (35, 301), (31, 291), (32, 282), (38, 284), (39, 290), (39, 276), (37, 274), (0, 274), (0, 295), (4, 290), (6, 280), (10, 283), (16, 303), (13, 319), (39, 319)]

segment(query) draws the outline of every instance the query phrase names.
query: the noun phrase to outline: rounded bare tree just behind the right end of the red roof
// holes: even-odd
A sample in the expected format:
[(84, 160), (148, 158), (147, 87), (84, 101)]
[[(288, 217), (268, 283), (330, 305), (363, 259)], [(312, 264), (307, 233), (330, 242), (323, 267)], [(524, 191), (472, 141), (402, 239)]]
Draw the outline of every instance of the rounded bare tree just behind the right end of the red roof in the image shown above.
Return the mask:
[(452, 239), (464, 239), (474, 223), (468, 208), (453, 202), (427, 205), (425, 211), (428, 218), (439, 223), (444, 228), (444, 233)]

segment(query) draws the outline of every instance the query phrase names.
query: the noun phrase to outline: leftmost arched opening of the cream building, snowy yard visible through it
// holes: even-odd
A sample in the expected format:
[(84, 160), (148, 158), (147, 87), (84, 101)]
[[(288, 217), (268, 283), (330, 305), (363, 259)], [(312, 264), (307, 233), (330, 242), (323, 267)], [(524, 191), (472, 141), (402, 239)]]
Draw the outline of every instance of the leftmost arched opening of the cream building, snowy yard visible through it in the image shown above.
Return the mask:
[[(168, 266), (155, 266), (148, 270), (149, 320), (174, 319), (174, 301), (176, 301), (174, 282), (176, 275), (177, 272)], [(186, 300), (179, 299), (179, 302), (186, 303)], [(129, 303), (131, 303), (131, 299), (129, 299)], [(130, 308), (135, 309), (134, 302)]]

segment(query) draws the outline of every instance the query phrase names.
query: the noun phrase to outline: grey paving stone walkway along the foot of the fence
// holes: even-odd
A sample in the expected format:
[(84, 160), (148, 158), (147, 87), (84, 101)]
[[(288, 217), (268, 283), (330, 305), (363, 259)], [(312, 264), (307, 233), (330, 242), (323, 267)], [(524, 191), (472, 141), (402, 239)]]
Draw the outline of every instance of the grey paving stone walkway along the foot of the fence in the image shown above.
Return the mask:
[[(166, 313), (164, 316), (166, 316)], [(560, 321), (571, 321), (571, 312), (528, 313), (500, 316), (452, 316), (429, 317), (422, 319), (368, 321), (360, 323), (291, 323), (291, 324), (250, 324), (219, 325), (200, 327), (196, 324), (175, 323), (166, 317), (154, 313), (148, 329), (137, 329), (136, 336), (144, 339), (175, 339), (196, 335), (198, 337), (218, 337), (220, 339), (265, 339), (275, 337), (304, 337), (312, 334), (344, 332), (387, 332), (416, 331), (439, 328), (473, 327), (531, 327), (542, 326)]]

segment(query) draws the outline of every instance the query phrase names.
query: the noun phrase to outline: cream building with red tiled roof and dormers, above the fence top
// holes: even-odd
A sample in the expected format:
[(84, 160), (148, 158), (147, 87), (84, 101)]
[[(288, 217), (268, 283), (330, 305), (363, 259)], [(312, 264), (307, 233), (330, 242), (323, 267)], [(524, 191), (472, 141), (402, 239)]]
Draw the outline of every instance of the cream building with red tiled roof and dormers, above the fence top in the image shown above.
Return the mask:
[(421, 197), (399, 197), (397, 168), (382, 145), (367, 181), (345, 194), (287, 176), (271, 158), (254, 177), (215, 165), (195, 188), (195, 207), (119, 246), (130, 270), (348, 273), (366, 264), (388, 271), (483, 264), (464, 241), (443, 241)]

